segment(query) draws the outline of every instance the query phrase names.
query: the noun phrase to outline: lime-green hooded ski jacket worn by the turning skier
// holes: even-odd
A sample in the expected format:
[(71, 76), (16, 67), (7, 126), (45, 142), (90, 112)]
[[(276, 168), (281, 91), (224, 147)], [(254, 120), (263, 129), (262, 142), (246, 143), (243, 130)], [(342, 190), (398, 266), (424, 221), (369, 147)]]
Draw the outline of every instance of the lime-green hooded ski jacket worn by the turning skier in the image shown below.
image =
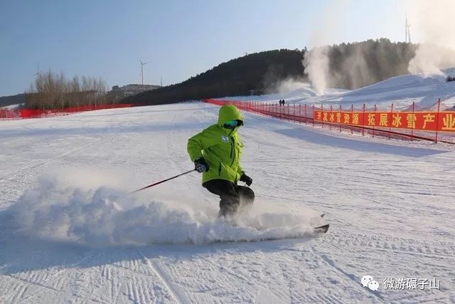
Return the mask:
[(207, 127), (188, 140), (188, 154), (194, 162), (204, 157), (208, 172), (203, 172), (202, 182), (211, 179), (226, 179), (234, 184), (243, 174), (240, 167), (242, 142), (237, 134), (238, 126), (227, 129), (223, 124), (229, 120), (242, 120), (243, 117), (234, 105), (223, 105), (218, 114), (218, 123)]

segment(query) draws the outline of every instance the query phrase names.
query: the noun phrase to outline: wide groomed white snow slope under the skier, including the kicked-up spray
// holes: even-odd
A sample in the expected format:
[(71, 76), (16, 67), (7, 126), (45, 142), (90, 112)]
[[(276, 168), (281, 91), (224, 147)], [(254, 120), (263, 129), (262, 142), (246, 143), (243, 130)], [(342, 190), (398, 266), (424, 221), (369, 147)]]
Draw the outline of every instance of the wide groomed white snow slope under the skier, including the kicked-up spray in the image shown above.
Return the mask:
[(0, 303), (454, 303), (454, 147), (243, 114), (257, 199), (237, 226), (196, 172), (127, 194), (191, 169), (216, 106), (0, 122)]

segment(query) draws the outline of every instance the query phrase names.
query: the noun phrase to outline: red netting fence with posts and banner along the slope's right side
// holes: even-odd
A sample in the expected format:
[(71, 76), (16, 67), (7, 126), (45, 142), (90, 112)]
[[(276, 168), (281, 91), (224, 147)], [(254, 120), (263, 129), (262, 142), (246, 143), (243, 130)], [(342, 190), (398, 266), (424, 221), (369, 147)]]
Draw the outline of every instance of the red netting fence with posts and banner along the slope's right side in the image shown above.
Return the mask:
[[(353, 105), (349, 109), (343, 109), (341, 105), (302, 105), (278, 103), (260, 103), (239, 100), (203, 100), (205, 103), (214, 105), (235, 105), (240, 110), (255, 112), (257, 114), (275, 117), (281, 120), (305, 123), (306, 125), (321, 125), (332, 129), (348, 130), (351, 133), (361, 132), (400, 140), (430, 140), (434, 142), (446, 142), (455, 144), (455, 111), (441, 111), (440, 103), (432, 105), (435, 110), (416, 110), (412, 106), (406, 111), (394, 110), (393, 104), (390, 110), (368, 109), (363, 105), (361, 109), (355, 109)], [(427, 108), (428, 109), (428, 108)]]

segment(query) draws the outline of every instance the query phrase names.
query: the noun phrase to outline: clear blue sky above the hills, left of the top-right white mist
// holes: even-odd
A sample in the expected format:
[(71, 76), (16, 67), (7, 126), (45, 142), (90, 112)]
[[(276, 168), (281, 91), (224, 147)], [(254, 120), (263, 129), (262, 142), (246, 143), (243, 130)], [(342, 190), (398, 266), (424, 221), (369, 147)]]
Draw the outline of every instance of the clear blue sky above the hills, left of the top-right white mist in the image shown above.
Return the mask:
[(321, 30), (324, 43), (404, 41), (404, 16), (400, 0), (2, 0), (0, 96), (23, 93), (38, 63), (110, 88), (141, 83), (141, 59), (144, 83), (168, 85), (245, 52), (311, 48)]

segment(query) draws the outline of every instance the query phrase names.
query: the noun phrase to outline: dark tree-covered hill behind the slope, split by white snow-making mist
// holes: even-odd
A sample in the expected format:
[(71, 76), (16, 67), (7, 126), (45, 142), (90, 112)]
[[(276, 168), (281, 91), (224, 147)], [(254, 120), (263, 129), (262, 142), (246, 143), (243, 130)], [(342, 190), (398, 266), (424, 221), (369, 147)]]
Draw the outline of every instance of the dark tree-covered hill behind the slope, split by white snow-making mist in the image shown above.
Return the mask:
[[(407, 74), (417, 45), (387, 38), (328, 46), (333, 88), (354, 89)], [(302, 60), (308, 50), (274, 50), (248, 54), (221, 63), (175, 85), (126, 98), (125, 103), (156, 105), (183, 100), (270, 93), (280, 81), (307, 81)]]

